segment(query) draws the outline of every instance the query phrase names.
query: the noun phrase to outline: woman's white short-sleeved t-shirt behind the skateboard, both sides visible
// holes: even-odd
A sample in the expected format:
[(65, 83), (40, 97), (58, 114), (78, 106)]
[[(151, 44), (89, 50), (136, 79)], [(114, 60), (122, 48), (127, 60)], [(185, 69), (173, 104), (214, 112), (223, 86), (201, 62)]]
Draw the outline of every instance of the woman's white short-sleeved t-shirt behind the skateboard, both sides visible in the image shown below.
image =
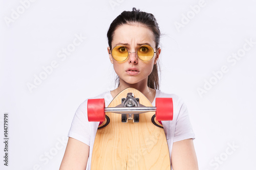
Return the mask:
[[(91, 99), (105, 99), (105, 107), (108, 107), (110, 102), (113, 100), (113, 97), (110, 93), (104, 92), (95, 98)], [(171, 156), (173, 142), (195, 138), (193, 129), (190, 124), (190, 120), (188, 117), (187, 107), (179, 98), (179, 96), (175, 94), (166, 94), (161, 90), (156, 90), (156, 96), (152, 103), (153, 107), (155, 107), (156, 98), (173, 98), (174, 105), (174, 115), (172, 121), (162, 121), (164, 132), (166, 135), (169, 155)], [(77, 109), (73, 122), (71, 124), (71, 128), (68, 136), (74, 139), (77, 139), (83, 143), (86, 143), (90, 147), (89, 153), (89, 163), (88, 169), (91, 169), (91, 161), (92, 161), (92, 149), (94, 144), (94, 139), (96, 136), (97, 128), (99, 122), (88, 122), (87, 117), (87, 100), (84, 101)]]

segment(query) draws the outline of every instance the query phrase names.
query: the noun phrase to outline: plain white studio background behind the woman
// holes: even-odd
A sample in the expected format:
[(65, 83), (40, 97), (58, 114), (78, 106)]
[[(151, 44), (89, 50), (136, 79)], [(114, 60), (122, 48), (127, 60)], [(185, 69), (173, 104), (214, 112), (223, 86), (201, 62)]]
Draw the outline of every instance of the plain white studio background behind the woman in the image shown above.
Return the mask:
[[(245, 39), (256, 41), (255, 1), (205, 0), (197, 14), (190, 6), (199, 1), (188, 0), (38, 0), (27, 8), (24, 1), (1, 1), (0, 7), (1, 169), (59, 168), (78, 106), (115, 87), (106, 33), (113, 19), (132, 7), (158, 20), (163, 34), (160, 89), (181, 96), (188, 106), (199, 168), (255, 168), (256, 44), (246, 45), (250, 50), (236, 63), (227, 61), (243, 52)], [(190, 19), (177, 29), (184, 15)], [(86, 39), (65, 60), (58, 58), (76, 34)], [(58, 66), (30, 92), (27, 84), (52, 61)], [(222, 66), (228, 71), (214, 78), (212, 72)], [(214, 85), (200, 96), (198, 88), (210, 80)], [(9, 113), (8, 167), (3, 161), (4, 113)]]

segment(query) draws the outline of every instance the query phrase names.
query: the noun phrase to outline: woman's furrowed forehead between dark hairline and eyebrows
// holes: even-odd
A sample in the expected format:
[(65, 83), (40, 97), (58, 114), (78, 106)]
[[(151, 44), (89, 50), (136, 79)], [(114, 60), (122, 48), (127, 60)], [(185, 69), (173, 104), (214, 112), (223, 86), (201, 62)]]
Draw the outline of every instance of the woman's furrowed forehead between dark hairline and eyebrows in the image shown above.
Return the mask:
[(140, 23), (129, 23), (119, 26), (113, 34), (112, 46), (117, 44), (145, 44), (155, 46), (153, 32)]

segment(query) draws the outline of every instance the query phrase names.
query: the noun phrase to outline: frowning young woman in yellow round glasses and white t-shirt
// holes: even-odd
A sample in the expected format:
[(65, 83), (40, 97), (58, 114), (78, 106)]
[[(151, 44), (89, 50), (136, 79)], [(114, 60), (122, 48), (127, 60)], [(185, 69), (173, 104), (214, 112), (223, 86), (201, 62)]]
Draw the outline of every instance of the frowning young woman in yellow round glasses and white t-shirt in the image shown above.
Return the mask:
[[(111, 23), (107, 36), (109, 58), (118, 75), (118, 87), (95, 98), (104, 98), (105, 105), (108, 106), (127, 87), (141, 91), (153, 106), (156, 97), (173, 98), (174, 118), (172, 121), (162, 122), (172, 167), (174, 170), (198, 169), (193, 144), (195, 136), (186, 106), (177, 95), (159, 90), (157, 62), (161, 53), (160, 30), (154, 15), (135, 8), (133, 11), (124, 11)], [(145, 52), (150, 55), (143, 55)], [(107, 97), (109, 95), (112, 99)], [(88, 122), (87, 100), (84, 101), (75, 113), (61, 170), (86, 169), (88, 158), (90, 169), (98, 125), (98, 122)]]

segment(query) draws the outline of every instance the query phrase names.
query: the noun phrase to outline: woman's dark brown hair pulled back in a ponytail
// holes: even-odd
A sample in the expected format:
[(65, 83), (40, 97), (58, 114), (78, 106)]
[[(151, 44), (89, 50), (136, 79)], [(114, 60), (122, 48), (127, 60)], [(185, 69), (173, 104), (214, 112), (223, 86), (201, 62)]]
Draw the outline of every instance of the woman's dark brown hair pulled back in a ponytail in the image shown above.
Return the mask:
[[(114, 31), (119, 27), (126, 23), (142, 23), (144, 26), (146, 26), (148, 29), (150, 29), (154, 35), (155, 35), (155, 43), (156, 43), (156, 49), (158, 48), (158, 45), (160, 43), (160, 30), (158, 27), (158, 23), (156, 21), (156, 18), (151, 13), (142, 12), (139, 9), (133, 8), (133, 11), (123, 11), (120, 15), (116, 17), (116, 19), (113, 20), (113, 22), (110, 25), (109, 31), (108, 31), (108, 41), (109, 46), (112, 49), (112, 40), (114, 36)], [(158, 62), (157, 62), (158, 64)], [(147, 86), (153, 89), (159, 89), (159, 79), (158, 79), (158, 67), (157, 64), (154, 64), (153, 70), (151, 74), (147, 78)], [(119, 77), (117, 76), (116, 82), (118, 81), (118, 86), (120, 84)]]

